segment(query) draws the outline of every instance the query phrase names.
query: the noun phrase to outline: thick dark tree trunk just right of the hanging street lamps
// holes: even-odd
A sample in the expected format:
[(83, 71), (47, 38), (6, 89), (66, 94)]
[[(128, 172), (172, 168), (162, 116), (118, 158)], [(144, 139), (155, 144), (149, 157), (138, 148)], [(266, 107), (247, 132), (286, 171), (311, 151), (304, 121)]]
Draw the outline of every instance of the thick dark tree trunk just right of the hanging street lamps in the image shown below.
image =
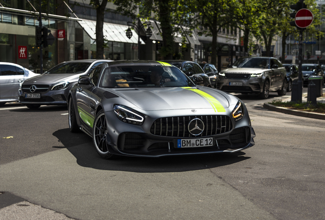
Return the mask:
[(165, 60), (172, 60), (173, 54), (175, 52), (174, 48), (174, 36), (173, 28), (170, 21), (170, 10), (169, 10), (170, 0), (160, 0), (159, 1), (159, 22), (162, 32), (162, 42), (163, 45), (159, 52), (164, 57)]

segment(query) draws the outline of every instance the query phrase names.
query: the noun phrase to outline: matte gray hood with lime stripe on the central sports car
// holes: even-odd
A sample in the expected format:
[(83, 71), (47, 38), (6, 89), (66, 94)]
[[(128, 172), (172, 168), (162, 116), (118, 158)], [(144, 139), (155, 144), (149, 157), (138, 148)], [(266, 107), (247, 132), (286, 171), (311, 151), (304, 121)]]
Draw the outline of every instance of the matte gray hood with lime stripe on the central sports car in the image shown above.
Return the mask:
[(215, 108), (216, 112), (224, 112), (224, 109), (229, 107), (229, 102), (225, 97), (227, 95), (224, 96), (223, 92), (204, 87), (141, 88), (115, 91), (117, 95), (144, 111)]

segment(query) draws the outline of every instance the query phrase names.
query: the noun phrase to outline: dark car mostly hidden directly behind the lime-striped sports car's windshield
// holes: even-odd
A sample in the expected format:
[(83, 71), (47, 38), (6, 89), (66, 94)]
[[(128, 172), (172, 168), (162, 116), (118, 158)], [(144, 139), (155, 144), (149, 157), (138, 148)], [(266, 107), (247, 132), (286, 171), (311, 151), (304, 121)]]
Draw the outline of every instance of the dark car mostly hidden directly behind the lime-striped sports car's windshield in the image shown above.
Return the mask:
[(205, 87), (212, 87), (210, 78), (205, 74), (204, 70), (193, 61), (183, 61), (183, 60), (166, 60), (163, 61), (172, 64), (183, 71), (190, 79), (193, 80), (193, 76), (201, 76), (203, 82), (198, 82), (198, 85)]

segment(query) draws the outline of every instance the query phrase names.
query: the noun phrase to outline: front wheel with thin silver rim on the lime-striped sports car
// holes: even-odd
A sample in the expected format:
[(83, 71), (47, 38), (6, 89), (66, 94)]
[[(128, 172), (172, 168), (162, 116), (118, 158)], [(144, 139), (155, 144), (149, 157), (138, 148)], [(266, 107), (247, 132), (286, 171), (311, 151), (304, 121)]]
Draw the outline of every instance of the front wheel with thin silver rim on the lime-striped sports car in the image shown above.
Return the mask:
[(106, 116), (103, 111), (99, 111), (96, 115), (94, 127), (92, 129), (92, 141), (94, 142), (97, 153), (104, 159), (113, 159), (114, 154), (109, 153), (108, 144), (106, 139), (107, 134), (107, 123)]

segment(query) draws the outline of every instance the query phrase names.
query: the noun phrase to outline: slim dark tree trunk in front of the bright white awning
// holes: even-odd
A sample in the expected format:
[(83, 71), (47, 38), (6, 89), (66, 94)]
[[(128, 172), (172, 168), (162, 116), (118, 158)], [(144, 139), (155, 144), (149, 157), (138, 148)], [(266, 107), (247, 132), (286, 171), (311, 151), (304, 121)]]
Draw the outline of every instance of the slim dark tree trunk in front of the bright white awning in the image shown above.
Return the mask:
[(104, 16), (107, 0), (103, 0), (100, 4), (99, 0), (95, 1), (96, 7), (96, 59), (104, 59)]

